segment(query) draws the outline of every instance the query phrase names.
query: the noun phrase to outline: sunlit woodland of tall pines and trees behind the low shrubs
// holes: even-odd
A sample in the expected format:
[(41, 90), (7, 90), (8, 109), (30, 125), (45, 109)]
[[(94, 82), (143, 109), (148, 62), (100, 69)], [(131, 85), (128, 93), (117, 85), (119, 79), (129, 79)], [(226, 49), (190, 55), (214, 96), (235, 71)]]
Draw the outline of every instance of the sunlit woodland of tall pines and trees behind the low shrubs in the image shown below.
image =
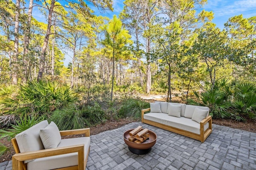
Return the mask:
[[(223, 78), (255, 82), (256, 16), (230, 18), (223, 30), (200, 10), (207, 0), (0, 0), (0, 84), (58, 81), (103, 84), (131, 93), (181, 93)], [(32, 16), (38, 8), (45, 17)], [(72, 62), (64, 66), (64, 58)]]

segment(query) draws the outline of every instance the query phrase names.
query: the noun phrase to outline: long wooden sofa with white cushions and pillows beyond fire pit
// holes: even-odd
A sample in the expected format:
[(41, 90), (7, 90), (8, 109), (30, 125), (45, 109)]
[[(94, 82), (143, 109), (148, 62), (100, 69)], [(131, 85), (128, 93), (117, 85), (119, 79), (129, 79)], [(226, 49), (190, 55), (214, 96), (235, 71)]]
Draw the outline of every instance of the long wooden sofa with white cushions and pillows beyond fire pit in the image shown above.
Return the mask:
[[(150, 111), (150, 113), (145, 113)], [(212, 116), (209, 107), (170, 102), (150, 103), (142, 109), (142, 123), (153, 125), (202, 143), (212, 133)]]

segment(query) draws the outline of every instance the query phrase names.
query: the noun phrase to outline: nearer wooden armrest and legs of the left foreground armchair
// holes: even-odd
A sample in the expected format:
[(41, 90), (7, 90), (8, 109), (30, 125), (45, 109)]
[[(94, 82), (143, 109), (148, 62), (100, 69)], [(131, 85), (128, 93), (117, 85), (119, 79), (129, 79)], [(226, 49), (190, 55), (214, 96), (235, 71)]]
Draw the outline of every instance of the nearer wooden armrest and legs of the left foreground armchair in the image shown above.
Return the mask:
[(23, 169), (23, 161), (35, 158), (43, 158), (48, 156), (55, 156), (60, 154), (68, 154), (78, 152), (78, 169), (84, 168), (84, 144), (72, 145), (68, 147), (60, 147), (53, 149), (43, 149), (31, 152), (16, 153), (12, 156), (12, 169), (20, 170)]

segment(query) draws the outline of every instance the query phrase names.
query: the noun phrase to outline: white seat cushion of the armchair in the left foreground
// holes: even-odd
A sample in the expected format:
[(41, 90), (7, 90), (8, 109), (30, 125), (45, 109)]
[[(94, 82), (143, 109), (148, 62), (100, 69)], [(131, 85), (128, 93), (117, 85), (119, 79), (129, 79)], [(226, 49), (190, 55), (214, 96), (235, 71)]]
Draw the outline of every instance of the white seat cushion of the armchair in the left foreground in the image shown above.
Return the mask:
[[(78, 137), (71, 139), (62, 139), (57, 148), (72, 145), (84, 144), (84, 160), (90, 147), (90, 137)], [(28, 170), (52, 170), (56, 168), (64, 168), (68, 166), (78, 165), (78, 153), (69, 153), (56, 156), (48, 156), (45, 158), (37, 158), (32, 162), (28, 162)]]

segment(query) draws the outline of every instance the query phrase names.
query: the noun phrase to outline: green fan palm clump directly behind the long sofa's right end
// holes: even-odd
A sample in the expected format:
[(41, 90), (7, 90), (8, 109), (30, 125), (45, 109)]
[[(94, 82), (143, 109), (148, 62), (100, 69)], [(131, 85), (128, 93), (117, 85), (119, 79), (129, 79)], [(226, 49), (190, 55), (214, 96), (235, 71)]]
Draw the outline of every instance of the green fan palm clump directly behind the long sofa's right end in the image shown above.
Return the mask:
[(207, 106), (213, 119), (230, 117), (228, 108), (230, 104), (230, 82), (226, 79), (216, 81), (215, 86), (206, 87), (200, 94), (194, 92), (196, 100), (188, 99), (188, 104)]

